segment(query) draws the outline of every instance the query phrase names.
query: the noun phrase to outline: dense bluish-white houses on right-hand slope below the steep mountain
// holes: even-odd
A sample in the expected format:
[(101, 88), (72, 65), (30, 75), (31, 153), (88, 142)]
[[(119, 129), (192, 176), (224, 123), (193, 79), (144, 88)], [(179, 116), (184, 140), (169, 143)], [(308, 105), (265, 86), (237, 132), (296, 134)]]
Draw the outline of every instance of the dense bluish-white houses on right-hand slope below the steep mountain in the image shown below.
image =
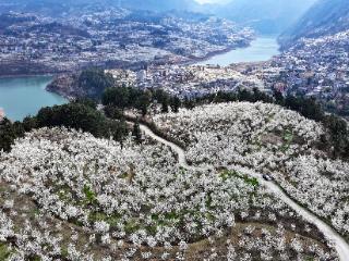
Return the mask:
[(349, 115), (349, 30), (302, 39), (278, 55), (273, 85), (288, 94), (315, 97), (329, 109)]

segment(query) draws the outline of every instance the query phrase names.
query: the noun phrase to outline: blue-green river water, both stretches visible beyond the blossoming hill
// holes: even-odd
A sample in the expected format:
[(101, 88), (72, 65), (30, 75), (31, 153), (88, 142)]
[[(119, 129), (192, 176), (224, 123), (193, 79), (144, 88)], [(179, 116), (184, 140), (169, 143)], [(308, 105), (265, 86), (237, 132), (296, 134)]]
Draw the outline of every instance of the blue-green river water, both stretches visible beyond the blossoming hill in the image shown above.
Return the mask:
[[(279, 53), (276, 37), (263, 36), (251, 46), (212, 57), (197, 63), (227, 66), (238, 62), (267, 61)], [(45, 87), (52, 80), (49, 76), (0, 78), (0, 108), (12, 121), (21, 121), (27, 115), (35, 115), (43, 107), (63, 104), (67, 100), (48, 92)]]

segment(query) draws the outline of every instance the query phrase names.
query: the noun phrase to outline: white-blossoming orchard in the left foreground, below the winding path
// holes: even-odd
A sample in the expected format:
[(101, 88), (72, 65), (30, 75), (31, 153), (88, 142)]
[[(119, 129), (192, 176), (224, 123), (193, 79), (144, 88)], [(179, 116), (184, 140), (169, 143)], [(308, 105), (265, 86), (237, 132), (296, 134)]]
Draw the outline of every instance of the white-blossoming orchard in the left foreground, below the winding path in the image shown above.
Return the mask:
[(154, 140), (34, 130), (1, 154), (0, 195), (3, 260), (337, 260), (256, 179)]

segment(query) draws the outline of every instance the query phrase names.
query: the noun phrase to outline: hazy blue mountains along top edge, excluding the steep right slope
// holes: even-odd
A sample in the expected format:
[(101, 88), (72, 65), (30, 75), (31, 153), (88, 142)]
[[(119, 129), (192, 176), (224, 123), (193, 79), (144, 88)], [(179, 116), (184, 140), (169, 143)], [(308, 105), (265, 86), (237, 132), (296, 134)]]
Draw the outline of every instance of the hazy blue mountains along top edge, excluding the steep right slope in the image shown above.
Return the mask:
[(296, 23), (314, 1), (230, 0), (200, 4), (195, 0), (3, 0), (0, 3), (0, 12), (1, 10), (15, 9), (19, 11), (40, 10), (58, 15), (69, 11), (72, 7), (98, 3), (155, 12), (180, 10), (209, 13), (251, 26), (262, 34), (280, 34), (291, 24)]

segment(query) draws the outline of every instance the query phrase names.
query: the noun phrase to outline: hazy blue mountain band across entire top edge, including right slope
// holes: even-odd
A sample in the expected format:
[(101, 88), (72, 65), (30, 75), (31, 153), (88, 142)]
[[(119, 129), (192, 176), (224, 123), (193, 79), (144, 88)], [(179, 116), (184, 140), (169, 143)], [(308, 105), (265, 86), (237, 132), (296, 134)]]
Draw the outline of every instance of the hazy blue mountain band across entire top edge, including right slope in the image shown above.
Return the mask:
[(250, 26), (260, 34), (281, 34), (282, 46), (302, 37), (316, 37), (349, 28), (348, 0), (227, 0), (205, 4), (200, 4), (197, 0), (2, 0), (0, 12), (35, 11), (55, 16), (86, 4), (217, 15)]

